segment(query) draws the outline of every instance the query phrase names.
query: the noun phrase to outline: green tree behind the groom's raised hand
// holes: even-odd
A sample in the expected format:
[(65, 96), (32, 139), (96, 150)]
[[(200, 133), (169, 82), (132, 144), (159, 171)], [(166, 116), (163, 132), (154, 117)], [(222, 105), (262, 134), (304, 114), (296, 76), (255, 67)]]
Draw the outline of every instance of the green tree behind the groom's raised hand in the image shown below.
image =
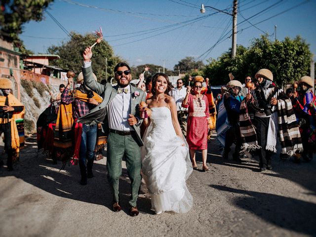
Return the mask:
[[(63, 41), (60, 46), (52, 45), (47, 51), (51, 54), (58, 54), (60, 59), (55, 61), (56, 66), (73, 70), (76, 74), (81, 72), (82, 52), (92, 45), (96, 36), (87, 34), (82, 36), (75, 32), (71, 32), (72, 39)], [(114, 55), (112, 47), (106, 40), (102, 40), (100, 44), (92, 48), (93, 73), (97, 76), (98, 81), (106, 79), (106, 60), (107, 60), (107, 76), (114, 77), (114, 68), (118, 62), (122, 61), (118, 56)]]

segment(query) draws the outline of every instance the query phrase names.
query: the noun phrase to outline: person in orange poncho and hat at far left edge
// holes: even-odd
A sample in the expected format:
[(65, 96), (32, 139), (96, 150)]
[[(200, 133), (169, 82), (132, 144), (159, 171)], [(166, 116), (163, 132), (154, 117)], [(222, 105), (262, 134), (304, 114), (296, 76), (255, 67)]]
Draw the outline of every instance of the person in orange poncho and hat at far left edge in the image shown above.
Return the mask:
[[(4, 149), (7, 154), (7, 170), (13, 170), (12, 162), (19, 158), (19, 149), (24, 144), (23, 136), (19, 136), (16, 119), (24, 118), (24, 106), (11, 94), (12, 82), (0, 78), (0, 135), (4, 134)], [(3, 161), (0, 160), (0, 166)]]

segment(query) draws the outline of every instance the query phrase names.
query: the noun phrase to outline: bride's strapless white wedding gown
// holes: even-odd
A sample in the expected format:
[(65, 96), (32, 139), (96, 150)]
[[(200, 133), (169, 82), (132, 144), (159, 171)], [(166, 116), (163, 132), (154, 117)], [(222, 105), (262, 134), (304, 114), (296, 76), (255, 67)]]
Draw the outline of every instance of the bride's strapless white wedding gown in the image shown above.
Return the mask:
[[(188, 146), (176, 135), (167, 107), (151, 108), (151, 124), (144, 135), (142, 172), (156, 213), (188, 212), (193, 205), (186, 180), (192, 172)], [(185, 142), (186, 143), (186, 142)]]

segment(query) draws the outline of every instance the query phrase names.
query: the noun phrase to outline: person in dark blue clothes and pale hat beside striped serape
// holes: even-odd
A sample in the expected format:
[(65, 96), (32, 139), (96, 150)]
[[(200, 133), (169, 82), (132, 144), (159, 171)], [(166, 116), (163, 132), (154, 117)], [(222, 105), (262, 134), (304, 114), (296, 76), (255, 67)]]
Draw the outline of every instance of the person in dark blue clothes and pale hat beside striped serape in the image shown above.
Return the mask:
[(227, 112), (227, 118), (231, 127), (227, 130), (225, 139), (224, 155), (225, 159), (228, 158), (230, 152), (230, 147), (236, 141), (235, 152), (233, 154), (233, 159), (235, 161), (241, 162), (239, 158), (239, 152), (241, 149), (241, 139), (240, 139), (240, 127), (239, 127), (239, 114), (240, 114), (240, 103), (243, 100), (243, 96), (239, 95), (241, 91), (242, 84), (238, 80), (231, 80), (226, 85), (227, 91), (224, 94), (224, 106)]

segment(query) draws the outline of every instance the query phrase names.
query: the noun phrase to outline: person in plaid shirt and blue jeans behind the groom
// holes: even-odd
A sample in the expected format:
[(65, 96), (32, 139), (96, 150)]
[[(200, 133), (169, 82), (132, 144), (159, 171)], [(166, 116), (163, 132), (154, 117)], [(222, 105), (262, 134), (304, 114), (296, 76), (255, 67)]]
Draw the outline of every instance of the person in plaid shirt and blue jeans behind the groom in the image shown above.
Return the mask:
[[(96, 80), (96, 77), (95, 77)], [(92, 90), (88, 89), (83, 82), (83, 76), (79, 76), (77, 79), (77, 83), (80, 86), (75, 89), (71, 90), (71, 87), (74, 85), (73, 77), (68, 79), (68, 84), (61, 94), (61, 102), (69, 105), (72, 104), (72, 112), (73, 112), (73, 119), (75, 124), (75, 134), (76, 129), (81, 132), (81, 135), (75, 136), (75, 151), (76, 153), (76, 144), (78, 145), (78, 140), (80, 139), (79, 145), (79, 168), (80, 168), (80, 175), (81, 185), (87, 184), (87, 178), (92, 178), (92, 166), (94, 161), (94, 150), (95, 144), (97, 140), (97, 129), (98, 124), (86, 124), (77, 122), (77, 119), (81, 116), (86, 115), (89, 113), (94, 107), (99, 105), (102, 102), (102, 98), (94, 93)], [(75, 157), (75, 155), (74, 155)]]

